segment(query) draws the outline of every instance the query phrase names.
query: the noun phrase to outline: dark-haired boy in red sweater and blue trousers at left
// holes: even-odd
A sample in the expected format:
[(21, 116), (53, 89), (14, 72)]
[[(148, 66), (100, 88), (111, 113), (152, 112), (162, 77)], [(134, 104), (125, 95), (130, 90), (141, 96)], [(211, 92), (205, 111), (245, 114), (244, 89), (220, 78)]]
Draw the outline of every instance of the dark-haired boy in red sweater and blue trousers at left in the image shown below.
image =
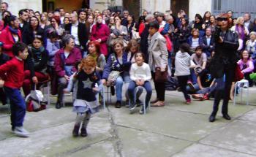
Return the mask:
[(16, 42), (12, 47), (15, 57), (0, 66), (0, 77), (4, 79), (0, 86), (10, 99), (12, 131), (19, 137), (29, 137), (29, 132), (23, 129), (23, 120), (26, 115), (26, 103), (21, 96), (20, 87), (24, 79), (23, 60), (29, 55), (26, 44)]

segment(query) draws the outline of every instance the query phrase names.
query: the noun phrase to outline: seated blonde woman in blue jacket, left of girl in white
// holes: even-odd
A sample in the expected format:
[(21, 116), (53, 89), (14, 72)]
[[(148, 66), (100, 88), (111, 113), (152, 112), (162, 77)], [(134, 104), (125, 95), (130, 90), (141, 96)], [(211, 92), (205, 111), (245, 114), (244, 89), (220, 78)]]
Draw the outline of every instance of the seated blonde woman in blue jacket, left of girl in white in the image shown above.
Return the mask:
[[(121, 107), (122, 88), (124, 82), (129, 82), (129, 74), (124, 72), (124, 66), (127, 58), (124, 54), (124, 45), (121, 40), (116, 40), (113, 43), (114, 52), (108, 57), (107, 64), (102, 74), (102, 83), (104, 85), (116, 85), (116, 108)], [(108, 83), (107, 83), (108, 81)]]

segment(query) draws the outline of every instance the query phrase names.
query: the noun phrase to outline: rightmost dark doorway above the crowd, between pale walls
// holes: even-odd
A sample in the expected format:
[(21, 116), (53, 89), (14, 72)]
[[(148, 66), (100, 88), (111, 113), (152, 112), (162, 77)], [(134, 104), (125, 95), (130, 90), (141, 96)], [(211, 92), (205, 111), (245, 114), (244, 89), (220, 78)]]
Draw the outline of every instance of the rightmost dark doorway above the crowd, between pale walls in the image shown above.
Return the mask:
[(170, 8), (174, 15), (177, 15), (180, 9), (183, 9), (189, 15), (189, 0), (171, 0)]

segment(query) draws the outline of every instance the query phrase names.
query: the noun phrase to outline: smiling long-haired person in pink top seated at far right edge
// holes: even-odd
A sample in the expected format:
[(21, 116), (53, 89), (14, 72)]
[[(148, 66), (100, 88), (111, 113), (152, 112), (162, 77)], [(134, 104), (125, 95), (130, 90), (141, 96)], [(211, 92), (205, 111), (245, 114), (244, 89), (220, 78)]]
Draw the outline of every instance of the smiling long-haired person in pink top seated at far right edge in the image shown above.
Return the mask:
[(252, 58), (250, 58), (247, 50), (244, 50), (243, 53), (241, 53), (241, 59), (238, 61), (238, 66), (240, 67), (241, 72), (244, 74), (245, 80), (249, 81), (249, 87), (252, 87), (253, 82), (249, 78), (249, 74), (253, 72), (255, 66), (253, 65)]

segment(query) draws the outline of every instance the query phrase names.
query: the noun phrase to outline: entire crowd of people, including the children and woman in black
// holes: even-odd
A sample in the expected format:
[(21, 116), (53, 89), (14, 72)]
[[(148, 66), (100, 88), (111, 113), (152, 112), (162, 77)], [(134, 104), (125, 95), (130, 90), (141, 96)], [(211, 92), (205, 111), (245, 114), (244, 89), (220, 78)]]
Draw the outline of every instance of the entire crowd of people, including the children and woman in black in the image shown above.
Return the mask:
[[(232, 11), (217, 17), (206, 12), (189, 20), (182, 9), (178, 15), (143, 10), (137, 20), (128, 10), (59, 8), (21, 9), (17, 17), (6, 2), (1, 3), (1, 12), (1, 102), (11, 104), (12, 131), (19, 136), (29, 134), (23, 129), (26, 102), (20, 88), (29, 96), (48, 80), (51, 93), (58, 96), (57, 109), (63, 107), (64, 93), (73, 92), (75, 137), (79, 130), (87, 136), (86, 126), (99, 107), (96, 94), (103, 85), (116, 94), (115, 107), (126, 104), (133, 112), (142, 104), (143, 88), (147, 110), (152, 78), (157, 92), (152, 107), (165, 106), (167, 80), (176, 79), (186, 104), (192, 102), (189, 95), (200, 100), (214, 97), (211, 122), (222, 98), (223, 117), (230, 120), (227, 103), (237, 92), (233, 91), (237, 67), (249, 81), (244, 87), (254, 85), (249, 74), (255, 71), (256, 20), (252, 22), (249, 13), (234, 18)], [(141, 108), (140, 113), (146, 110)]]

